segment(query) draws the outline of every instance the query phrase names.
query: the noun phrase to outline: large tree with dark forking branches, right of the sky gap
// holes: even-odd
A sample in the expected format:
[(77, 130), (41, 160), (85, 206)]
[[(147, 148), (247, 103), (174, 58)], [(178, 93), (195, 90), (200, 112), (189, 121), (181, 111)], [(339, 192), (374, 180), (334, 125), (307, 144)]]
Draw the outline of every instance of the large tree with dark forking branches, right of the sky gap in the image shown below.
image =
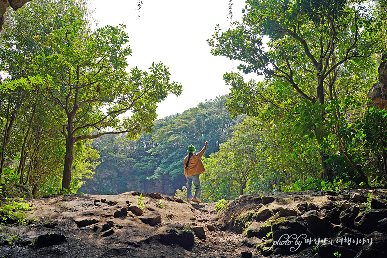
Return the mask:
[[(225, 74), (233, 86), (229, 108), (234, 114), (256, 115), (267, 105), (282, 112), (313, 113), (312, 128), (310, 121), (298, 126), (313, 133), (322, 174), (330, 178), (324, 139), (331, 127), (325, 121), (325, 107), (343, 98), (339, 89), (350, 78), (364, 78), (362, 72), (374, 65), (370, 56), (380, 48), (368, 30), (374, 25), (368, 2), (248, 0), (246, 4), (243, 21), (226, 32), (216, 27), (208, 43), (214, 55), (241, 61), (242, 72), (265, 75), (267, 80), (243, 83), (238, 74)], [(334, 118), (341, 117), (339, 105), (331, 112)], [(340, 125), (336, 119), (336, 131)]]

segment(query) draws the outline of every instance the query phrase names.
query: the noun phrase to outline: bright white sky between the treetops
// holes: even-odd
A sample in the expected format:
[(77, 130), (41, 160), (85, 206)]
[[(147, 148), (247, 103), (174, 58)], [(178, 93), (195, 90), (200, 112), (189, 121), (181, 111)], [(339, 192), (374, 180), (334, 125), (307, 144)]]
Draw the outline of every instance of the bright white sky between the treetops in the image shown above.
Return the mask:
[[(91, 9), (99, 27), (124, 23), (133, 51), (131, 67), (147, 70), (152, 62), (169, 67), (172, 81), (181, 83), (183, 93), (169, 95), (159, 104), (158, 118), (182, 113), (206, 99), (229, 93), (223, 74), (232, 71), (233, 63), (213, 56), (206, 39), (216, 24), (223, 31), (230, 27), (229, 0), (143, 0), (140, 10), (136, 0), (91, 0)], [(244, 0), (233, 0), (233, 20), (240, 20)], [(138, 17), (138, 15), (140, 15)], [(234, 71), (238, 70), (234, 62)], [(249, 77), (251, 78), (251, 77)]]

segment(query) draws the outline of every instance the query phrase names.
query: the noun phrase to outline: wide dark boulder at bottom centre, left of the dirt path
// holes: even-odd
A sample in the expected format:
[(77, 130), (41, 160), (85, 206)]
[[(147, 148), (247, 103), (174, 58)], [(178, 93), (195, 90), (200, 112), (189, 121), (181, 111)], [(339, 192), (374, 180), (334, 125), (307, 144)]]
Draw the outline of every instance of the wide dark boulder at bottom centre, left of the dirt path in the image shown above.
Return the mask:
[(181, 225), (165, 225), (158, 228), (149, 237), (149, 240), (157, 240), (162, 244), (177, 244), (186, 250), (193, 247), (193, 231), (187, 230)]

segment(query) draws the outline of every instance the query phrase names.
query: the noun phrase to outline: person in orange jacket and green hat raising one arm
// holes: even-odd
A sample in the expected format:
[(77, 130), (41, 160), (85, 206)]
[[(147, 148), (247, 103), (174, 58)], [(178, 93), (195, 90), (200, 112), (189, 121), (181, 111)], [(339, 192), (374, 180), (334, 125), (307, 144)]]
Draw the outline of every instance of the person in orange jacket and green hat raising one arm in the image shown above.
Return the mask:
[[(200, 180), (199, 180), (199, 175), (202, 174), (204, 170), (204, 166), (202, 163), (202, 160), (200, 158), (203, 156), (203, 154), (207, 150), (207, 144), (208, 142), (206, 141), (203, 149), (198, 152), (197, 154), (194, 154), (195, 147), (191, 144), (188, 146), (188, 152), (189, 155), (187, 155), (184, 158), (184, 174), (185, 177), (187, 178), (187, 198), (189, 203), (191, 201), (196, 202), (196, 203), (201, 203), (198, 198), (200, 198)], [(193, 194), (193, 199), (192, 199), (192, 182), (193, 185), (195, 185), (195, 194)]]

